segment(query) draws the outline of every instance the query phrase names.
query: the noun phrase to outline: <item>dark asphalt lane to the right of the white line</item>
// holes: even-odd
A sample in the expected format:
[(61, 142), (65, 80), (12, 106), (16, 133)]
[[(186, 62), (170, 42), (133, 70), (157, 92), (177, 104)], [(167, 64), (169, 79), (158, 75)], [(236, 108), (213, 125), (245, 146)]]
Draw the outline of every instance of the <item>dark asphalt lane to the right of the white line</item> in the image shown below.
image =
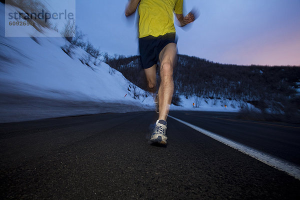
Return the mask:
[(171, 111), (171, 116), (300, 166), (300, 125), (240, 120), (232, 112)]

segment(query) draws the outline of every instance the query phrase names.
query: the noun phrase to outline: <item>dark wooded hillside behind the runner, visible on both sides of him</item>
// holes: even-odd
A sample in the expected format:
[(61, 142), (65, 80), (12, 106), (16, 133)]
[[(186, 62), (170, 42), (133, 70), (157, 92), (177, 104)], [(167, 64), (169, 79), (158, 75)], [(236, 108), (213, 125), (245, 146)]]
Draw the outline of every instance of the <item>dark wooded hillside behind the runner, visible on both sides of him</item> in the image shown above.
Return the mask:
[[(145, 89), (138, 56), (106, 57), (104, 61)], [(158, 73), (157, 70), (157, 77)], [(180, 104), (178, 96), (192, 97), (194, 101), (198, 97), (206, 103), (208, 100), (235, 100), (241, 108), (250, 109), (247, 105), (250, 103), (262, 113), (283, 114), (289, 121), (300, 119), (298, 66), (221, 64), (179, 54), (174, 82), (174, 104)]]

